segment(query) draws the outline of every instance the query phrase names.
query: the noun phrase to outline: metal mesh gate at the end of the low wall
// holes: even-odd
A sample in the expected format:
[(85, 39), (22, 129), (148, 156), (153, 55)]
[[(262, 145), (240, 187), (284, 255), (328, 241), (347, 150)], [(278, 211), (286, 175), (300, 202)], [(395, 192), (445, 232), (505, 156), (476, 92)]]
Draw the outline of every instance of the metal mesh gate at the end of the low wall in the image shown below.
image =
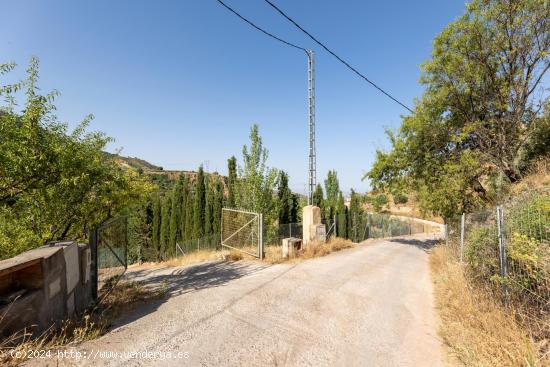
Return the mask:
[(113, 218), (90, 231), (92, 252), (92, 292), (97, 292), (113, 277), (128, 268), (128, 218)]

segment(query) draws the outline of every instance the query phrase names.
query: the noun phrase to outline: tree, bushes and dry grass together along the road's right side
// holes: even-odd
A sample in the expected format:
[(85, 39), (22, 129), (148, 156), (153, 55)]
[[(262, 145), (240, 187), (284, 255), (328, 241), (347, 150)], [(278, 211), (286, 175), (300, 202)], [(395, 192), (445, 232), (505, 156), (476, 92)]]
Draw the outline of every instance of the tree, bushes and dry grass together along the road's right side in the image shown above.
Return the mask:
[[(431, 260), (440, 334), (465, 365), (550, 364), (549, 70), (547, 1), (468, 3), (436, 37), (422, 65), (424, 94), (365, 175), (380, 195), (408, 193), (455, 236), (462, 213), (472, 221), (463, 264), (456, 243), (436, 247)], [(385, 204), (380, 195), (375, 205)]]

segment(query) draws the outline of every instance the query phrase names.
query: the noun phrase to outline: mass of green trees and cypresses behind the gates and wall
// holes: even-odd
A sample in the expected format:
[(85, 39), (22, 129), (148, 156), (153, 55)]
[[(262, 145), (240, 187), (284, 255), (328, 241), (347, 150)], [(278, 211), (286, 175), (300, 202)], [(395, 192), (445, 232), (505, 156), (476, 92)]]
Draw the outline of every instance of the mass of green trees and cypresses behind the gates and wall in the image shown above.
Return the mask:
[[(15, 64), (0, 64), (9, 79)], [(297, 223), (305, 197), (289, 188), (289, 176), (269, 167), (259, 127), (250, 129), (242, 158), (227, 161), (226, 177), (170, 171), (139, 158), (105, 150), (113, 139), (89, 131), (86, 116), (72, 131), (55, 115), (57, 91), (41, 94), (38, 60), (25, 80), (0, 83), (0, 259), (49, 241), (87, 241), (88, 231), (108, 219), (128, 218), (128, 262), (162, 262), (219, 246), (221, 210), (263, 214), (266, 243), (279, 242), (279, 227)], [(20, 100), (23, 100), (21, 103)], [(352, 190), (345, 204), (336, 171), (317, 186), (314, 204), (326, 221), (337, 218), (337, 235), (351, 237), (362, 198)]]

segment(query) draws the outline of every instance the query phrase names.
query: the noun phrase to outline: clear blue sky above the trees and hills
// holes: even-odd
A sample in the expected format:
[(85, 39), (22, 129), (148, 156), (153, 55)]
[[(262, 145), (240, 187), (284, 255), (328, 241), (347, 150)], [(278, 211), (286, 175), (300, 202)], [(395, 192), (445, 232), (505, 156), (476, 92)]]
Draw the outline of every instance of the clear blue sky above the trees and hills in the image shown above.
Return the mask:
[[(226, 0), (267, 30), (316, 52), (318, 180), (336, 169), (342, 189), (361, 176), (384, 128), (407, 111), (352, 74), (265, 2)], [(407, 105), (422, 93), (420, 64), (433, 38), (464, 12), (462, 0), (276, 0), (302, 26)], [(58, 89), (70, 126), (93, 113), (109, 149), (165, 169), (226, 173), (258, 123), (269, 165), (307, 182), (307, 62), (215, 0), (3, 1), (0, 62), (22, 76), (40, 59), (40, 86)]]

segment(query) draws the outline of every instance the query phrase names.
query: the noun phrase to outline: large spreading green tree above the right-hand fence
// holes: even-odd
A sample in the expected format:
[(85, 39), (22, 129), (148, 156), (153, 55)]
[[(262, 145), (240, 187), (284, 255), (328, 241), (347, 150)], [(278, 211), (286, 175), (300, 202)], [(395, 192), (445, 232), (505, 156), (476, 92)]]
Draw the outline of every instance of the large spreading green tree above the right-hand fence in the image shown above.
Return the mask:
[(520, 179), (544, 136), (537, 121), (549, 69), (545, 1), (472, 1), (436, 37), (424, 95), (366, 177), (374, 188), (414, 190), (424, 211), (445, 217), (494, 201), (488, 178)]

